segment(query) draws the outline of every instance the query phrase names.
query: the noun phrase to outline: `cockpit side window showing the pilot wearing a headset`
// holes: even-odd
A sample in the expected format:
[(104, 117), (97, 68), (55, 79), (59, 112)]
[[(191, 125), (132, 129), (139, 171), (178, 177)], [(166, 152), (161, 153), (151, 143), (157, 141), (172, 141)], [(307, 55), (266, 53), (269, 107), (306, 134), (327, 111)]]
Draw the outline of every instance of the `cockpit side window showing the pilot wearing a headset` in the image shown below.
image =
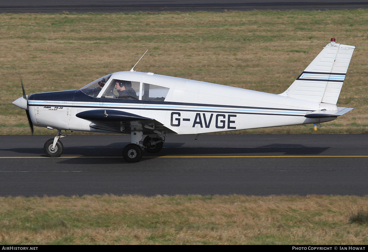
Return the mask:
[(105, 93), (102, 94), (102, 97), (138, 100), (139, 84), (139, 82), (133, 82), (130, 80), (113, 79), (109, 87), (105, 90)]

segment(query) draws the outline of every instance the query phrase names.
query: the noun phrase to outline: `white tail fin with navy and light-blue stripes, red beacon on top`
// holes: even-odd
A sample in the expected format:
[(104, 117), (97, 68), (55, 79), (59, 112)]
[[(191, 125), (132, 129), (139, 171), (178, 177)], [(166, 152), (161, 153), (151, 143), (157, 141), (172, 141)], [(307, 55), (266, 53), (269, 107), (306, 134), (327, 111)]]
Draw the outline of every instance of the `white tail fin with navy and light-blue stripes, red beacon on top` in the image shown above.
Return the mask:
[(355, 46), (326, 45), (281, 96), (307, 101), (337, 103)]

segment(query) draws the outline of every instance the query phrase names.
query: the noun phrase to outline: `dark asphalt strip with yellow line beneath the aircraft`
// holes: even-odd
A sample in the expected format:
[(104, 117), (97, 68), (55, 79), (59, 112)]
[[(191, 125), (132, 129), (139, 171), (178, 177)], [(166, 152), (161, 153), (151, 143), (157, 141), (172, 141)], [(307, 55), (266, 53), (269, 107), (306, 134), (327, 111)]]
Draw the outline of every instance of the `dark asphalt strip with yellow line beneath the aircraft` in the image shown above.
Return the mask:
[(0, 136), (0, 196), (368, 195), (368, 135), (168, 136), (141, 162), (121, 157), (129, 136)]

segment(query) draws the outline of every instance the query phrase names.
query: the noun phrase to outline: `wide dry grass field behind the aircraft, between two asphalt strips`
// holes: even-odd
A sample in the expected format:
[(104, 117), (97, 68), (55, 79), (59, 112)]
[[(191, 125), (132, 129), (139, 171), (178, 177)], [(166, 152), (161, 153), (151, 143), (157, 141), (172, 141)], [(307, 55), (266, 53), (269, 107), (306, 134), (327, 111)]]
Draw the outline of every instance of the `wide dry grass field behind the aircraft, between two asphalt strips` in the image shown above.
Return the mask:
[(22, 96), (19, 73), (27, 94), (77, 89), (109, 69), (130, 70), (149, 49), (135, 70), (282, 93), (331, 37), (357, 47), (337, 104), (353, 111), (317, 132), (231, 133), (367, 133), (367, 23), (368, 10), (0, 14), (0, 134), (30, 134), (11, 104)]

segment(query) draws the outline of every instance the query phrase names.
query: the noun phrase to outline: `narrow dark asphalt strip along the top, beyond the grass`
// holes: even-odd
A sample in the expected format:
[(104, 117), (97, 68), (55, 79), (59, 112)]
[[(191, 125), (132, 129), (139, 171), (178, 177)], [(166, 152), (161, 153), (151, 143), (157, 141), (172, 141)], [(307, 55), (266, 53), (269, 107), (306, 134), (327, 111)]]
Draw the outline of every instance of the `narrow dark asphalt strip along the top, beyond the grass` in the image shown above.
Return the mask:
[(344, 10), (368, 8), (367, 0), (2, 0), (1, 12), (88, 13), (160, 11)]

